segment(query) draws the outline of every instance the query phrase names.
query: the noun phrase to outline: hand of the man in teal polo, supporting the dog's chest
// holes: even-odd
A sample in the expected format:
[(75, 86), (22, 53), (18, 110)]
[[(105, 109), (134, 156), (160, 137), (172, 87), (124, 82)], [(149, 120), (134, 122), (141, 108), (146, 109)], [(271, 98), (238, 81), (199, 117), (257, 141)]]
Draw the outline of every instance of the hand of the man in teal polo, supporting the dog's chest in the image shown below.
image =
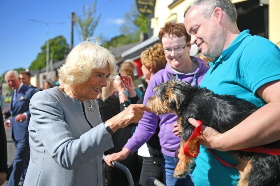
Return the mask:
[[(189, 118), (188, 121), (194, 127), (199, 126), (199, 123), (197, 122), (197, 120), (195, 120), (193, 118)], [(222, 134), (219, 133), (217, 130), (215, 130), (211, 127), (205, 126), (203, 124), (201, 125), (201, 127), (202, 127), (202, 130), (201, 130), (200, 144), (203, 146), (206, 146), (208, 148), (211, 148), (211, 149), (223, 151), (223, 149), (221, 149), (219, 147), (219, 139)]]

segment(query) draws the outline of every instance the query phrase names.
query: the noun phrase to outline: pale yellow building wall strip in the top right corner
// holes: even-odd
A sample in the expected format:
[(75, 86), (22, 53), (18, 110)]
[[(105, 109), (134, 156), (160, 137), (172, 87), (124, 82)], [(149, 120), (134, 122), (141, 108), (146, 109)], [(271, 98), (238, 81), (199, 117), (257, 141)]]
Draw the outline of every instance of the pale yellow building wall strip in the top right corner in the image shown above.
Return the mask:
[(269, 0), (268, 37), (280, 47), (280, 0)]

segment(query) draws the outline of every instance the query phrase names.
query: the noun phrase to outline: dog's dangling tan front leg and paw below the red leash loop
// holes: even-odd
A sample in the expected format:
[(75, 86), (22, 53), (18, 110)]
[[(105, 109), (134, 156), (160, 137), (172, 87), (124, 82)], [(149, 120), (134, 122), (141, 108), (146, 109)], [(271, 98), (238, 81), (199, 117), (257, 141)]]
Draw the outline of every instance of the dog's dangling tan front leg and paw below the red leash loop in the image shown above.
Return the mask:
[(193, 158), (187, 157), (184, 154), (184, 144), (186, 141), (181, 140), (180, 149), (179, 149), (179, 162), (174, 170), (173, 176), (175, 178), (184, 178), (189, 172), (191, 165), (193, 164)]

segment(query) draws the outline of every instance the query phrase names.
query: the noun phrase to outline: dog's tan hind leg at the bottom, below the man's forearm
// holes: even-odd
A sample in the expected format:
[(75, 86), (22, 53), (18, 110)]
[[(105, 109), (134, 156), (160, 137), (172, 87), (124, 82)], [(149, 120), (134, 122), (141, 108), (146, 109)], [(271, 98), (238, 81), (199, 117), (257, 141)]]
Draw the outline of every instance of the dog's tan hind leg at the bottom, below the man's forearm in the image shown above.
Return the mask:
[(252, 170), (251, 160), (249, 161), (243, 159), (239, 160), (239, 165), (237, 166), (237, 169), (239, 170), (240, 173), (240, 179), (238, 181), (237, 186), (249, 186), (249, 183), (246, 180), (246, 178)]

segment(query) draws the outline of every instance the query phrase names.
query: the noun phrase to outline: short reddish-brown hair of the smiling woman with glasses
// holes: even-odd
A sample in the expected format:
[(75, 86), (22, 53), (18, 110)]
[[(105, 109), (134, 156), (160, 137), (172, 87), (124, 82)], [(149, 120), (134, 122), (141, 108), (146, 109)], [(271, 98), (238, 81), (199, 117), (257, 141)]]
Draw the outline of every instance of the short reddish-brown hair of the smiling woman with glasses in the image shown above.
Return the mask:
[(186, 42), (190, 41), (190, 36), (188, 35), (185, 25), (183, 23), (166, 23), (164, 27), (160, 28), (160, 32), (158, 33), (160, 42), (162, 37), (166, 34), (168, 36), (175, 35), (177, 37), (186, 36)]

